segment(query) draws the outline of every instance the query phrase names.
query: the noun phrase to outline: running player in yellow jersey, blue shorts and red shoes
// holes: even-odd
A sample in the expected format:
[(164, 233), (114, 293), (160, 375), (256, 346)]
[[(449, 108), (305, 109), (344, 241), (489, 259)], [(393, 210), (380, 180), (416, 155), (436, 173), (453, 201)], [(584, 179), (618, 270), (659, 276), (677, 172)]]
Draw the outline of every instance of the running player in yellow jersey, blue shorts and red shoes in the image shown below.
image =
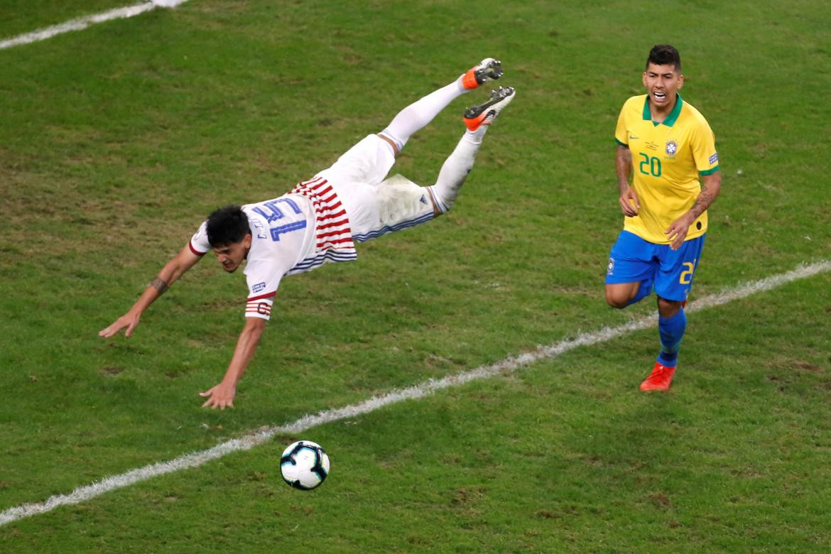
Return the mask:
[(674, 47), (652, 48), (643, 86), (647, 94), (623, 104), (615, 130), (625, 217), (609, 253), (606, 302), (625, 308), (655, 290), (661, 352), (641, 390), (668, 390), (707, 232), (706, 209), (719, 194), (721, 174), (710, 125), (678, 94), (684, 76)]

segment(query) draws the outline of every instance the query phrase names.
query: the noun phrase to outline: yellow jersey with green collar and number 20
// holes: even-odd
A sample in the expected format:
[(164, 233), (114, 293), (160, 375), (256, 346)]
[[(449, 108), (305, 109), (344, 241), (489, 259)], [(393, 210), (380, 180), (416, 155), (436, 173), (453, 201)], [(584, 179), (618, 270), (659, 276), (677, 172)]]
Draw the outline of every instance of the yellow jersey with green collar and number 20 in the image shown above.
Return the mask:
[[(698, 176), (719, 170), (710, 125), (680, 95), (661, 123), (652, 121), (647, 95), (632, 96), (617, 118), (615, 140), (632, 153), (632, 186), (641, 203), (635, 217), (624, 218), (623, 229), (650, 243), (671, 243), (664, 231), (696, 202), (701, 193)], [(706, 230), (704, 212), (690, 226), (686, 240)]]

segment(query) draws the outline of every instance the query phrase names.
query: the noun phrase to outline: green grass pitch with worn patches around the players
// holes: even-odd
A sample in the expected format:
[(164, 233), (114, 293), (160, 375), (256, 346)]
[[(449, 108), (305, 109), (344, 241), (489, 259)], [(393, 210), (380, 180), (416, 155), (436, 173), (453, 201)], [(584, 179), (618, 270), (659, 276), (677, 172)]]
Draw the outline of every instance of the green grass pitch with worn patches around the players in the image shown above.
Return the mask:
[[(125, 2), (129, 3), (129, 2)], [(0, 0), (0, 40), (112, 0)], [(262, 426), (651, 313), (602, 298), (613, 132), (681, 51), (724, 185), (696, 298), (831, 258), (831, 7), (819, 0), (189, 0), (0, 50), (0, 512)], [(214, 208), (312, 177), (484, 56), (517, 98), (446, 217), (288, 277), (236, 409), (200, 409), (243, 325), (205, 259), (126, 311)], [(455, 101), (396, 171), (422, 184)], [(828, 552), (831, 274), (309, 429), (0, 527), (2, 552)], [(322, 488), (279, 478), (311, 439)]]

